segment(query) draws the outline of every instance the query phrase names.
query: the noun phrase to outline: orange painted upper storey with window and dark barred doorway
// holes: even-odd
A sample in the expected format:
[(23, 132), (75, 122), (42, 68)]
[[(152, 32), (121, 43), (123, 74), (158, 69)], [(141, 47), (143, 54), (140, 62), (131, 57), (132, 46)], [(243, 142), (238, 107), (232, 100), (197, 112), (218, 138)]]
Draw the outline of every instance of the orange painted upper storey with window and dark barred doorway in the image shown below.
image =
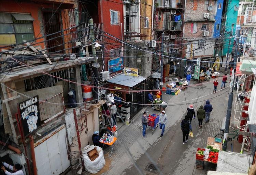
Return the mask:
[(65, 30), (70, 28), (68, 9), (75, 7), (76, 0), (2, 0), (0, 47), (38, 38), (33, 45), (47, 52), (68, 53), (72, 47), (70, 30)]

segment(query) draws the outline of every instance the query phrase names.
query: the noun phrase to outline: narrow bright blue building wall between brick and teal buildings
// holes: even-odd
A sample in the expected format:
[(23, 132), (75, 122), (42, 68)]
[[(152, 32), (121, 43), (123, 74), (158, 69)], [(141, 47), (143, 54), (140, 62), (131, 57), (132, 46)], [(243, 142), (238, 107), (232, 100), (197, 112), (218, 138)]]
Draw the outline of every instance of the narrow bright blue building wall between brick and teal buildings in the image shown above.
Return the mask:
[(215, 14), (215, 20), (216, 22), (214, 23), (214, 33), (213, 37), (217, 38), (220, 35), (221, 32), (221, 21), (222, 21), (222, 11), (223, 11), (223, 0), (218, 0), (217, 1), (217, 10)]

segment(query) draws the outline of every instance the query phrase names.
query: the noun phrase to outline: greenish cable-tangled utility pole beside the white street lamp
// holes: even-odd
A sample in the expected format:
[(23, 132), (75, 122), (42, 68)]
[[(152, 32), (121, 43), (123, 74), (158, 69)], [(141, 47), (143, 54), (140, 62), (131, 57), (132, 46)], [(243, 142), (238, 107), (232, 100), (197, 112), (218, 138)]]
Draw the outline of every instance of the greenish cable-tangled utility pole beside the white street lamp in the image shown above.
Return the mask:
[[(93, 19), (91, 18), (89, 20), (90, 22), (90, 37), (91, 37), (91, 41), (92, 42), (95, 42), (95, 37), (94, 37), (94, 25), (93, 25)], [(93, 48), (93, 57), (96, 57), (96, 48)], [(98, 103), (98, 98), (99, 98), (99, 95), (98, 95), (98, 80), (99, 80), (99, 71), (98, 71), (98, 68), (100, 67), (100, 65), (97, 63), (97, 60), (94, 61), (93, 63), (93, 72), (94, 72), (94, 76), (93, 76), (93, 82), (94, 82), (94, 93), (93, 93), (93, 98), (94, 98), (94, 102), (95, 103)]]

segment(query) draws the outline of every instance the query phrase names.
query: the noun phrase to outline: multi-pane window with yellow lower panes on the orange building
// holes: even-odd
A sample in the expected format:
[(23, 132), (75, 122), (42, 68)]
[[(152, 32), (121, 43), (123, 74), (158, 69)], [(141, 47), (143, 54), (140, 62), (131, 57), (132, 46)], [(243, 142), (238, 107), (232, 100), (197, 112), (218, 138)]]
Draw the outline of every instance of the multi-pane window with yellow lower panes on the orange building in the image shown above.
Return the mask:
[(0, 13), (0, 44), (16, 44), (34, 39), (33, 21), (30, 14)]

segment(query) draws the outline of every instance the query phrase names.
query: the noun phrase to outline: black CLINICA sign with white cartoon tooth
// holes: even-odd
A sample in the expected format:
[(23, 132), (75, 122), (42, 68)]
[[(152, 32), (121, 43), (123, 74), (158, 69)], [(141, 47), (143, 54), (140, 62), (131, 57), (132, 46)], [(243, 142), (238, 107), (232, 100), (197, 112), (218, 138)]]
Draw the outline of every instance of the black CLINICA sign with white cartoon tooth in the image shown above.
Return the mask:
[(19, 103), (20, 120), (24, 136), (41, 126), (38, 95)]

